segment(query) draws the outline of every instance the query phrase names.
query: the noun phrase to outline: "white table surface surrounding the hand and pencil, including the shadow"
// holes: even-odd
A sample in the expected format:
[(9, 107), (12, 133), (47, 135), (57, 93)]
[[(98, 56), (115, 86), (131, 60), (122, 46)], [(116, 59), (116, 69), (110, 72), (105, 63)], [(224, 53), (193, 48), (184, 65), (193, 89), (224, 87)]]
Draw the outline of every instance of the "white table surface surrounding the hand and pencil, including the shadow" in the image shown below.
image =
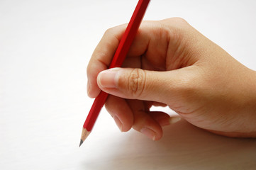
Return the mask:
[[(130, 20), (136, 4), (0, 1), (0, 169), (256, 169), (256, 140), (213, 135), (182, 120), (152, 142), (119, 132), (105, 109), (78, 147), (93, 102), (86, 91), (91, 53), (107, 28)], [(256, 70), (255, 9), (252, 0), (152, 0), (145, 20), (185, 18)]]

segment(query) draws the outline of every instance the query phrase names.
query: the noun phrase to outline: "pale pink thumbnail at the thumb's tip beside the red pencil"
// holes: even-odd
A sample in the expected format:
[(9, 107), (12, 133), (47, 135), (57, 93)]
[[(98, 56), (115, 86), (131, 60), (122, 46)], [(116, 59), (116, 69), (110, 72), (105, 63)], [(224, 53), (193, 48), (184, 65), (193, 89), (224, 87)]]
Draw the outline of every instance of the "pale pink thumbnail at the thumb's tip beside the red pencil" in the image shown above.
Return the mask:
[(99, 73), (98, 84), (104, 88), (116, 88), (116, 74), (118, 69), (107, 69)]

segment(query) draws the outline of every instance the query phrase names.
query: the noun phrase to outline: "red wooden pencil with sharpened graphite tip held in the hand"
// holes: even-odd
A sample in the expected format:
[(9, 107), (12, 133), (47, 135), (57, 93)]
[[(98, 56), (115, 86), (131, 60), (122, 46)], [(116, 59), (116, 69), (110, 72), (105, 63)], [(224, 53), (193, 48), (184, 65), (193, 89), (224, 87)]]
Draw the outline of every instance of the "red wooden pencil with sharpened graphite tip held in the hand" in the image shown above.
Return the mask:
[[(149, 2), (150, 0), (138, 1), (135, 11), (133, 12), (133, 16), (130, 18), (130, 22), (128, 23), (126, 31), (123, 34), (123, 37), (118, 45), (116, 53), (113, 56), (113, 60), (108, 69), (111, 69), (113, 67), (121, 67), (123, 60), (125, 60), (126, 58), (130, 45), (132, 44), (133, 39), (135, 38), (138, 28), (140, 27), (140, 23), (143, 20), (143, 16), (145, 14)], [(87, 119), (84, 122), (79, 147), (82, 145), (84, 140), (88, 137), (89, 133), (91, 132), (91, 129), (94, 126), (96, 118), (98, 117), (101, 108), (104, 106), (107, 97), (108, 94), (106, 94), (104, 91), (101, 91), (99, 96), (95, 98), (94, 103), (91, 106), (91, 110), (87, 115)]]

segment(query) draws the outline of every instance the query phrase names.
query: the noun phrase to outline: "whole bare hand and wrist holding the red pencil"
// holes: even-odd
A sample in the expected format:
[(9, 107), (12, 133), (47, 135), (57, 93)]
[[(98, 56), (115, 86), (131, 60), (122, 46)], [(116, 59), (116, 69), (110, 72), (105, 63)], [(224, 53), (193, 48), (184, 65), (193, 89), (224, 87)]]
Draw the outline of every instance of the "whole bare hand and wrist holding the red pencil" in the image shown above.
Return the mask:
[(256, 137), (256, 73), (182, 18), (144, 21), (122, 68), (107, 69), (127, 25), (106, 30), (87, 67), (88, 96), (111, 94), (118, 128), (160, 140), (178, 120), (150, 111), (169, 106), (189, 123), (228, 137)]

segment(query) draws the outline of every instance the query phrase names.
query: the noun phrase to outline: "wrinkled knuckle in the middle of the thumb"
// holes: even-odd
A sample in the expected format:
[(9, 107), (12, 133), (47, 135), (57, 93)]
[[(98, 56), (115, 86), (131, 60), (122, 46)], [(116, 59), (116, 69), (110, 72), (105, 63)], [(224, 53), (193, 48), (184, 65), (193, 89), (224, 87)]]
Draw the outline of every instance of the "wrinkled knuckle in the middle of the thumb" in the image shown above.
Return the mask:
[(128, 91), (133, 96), (140, 96), (145, 88), (145, 71), (143, 69), (133, 69), (128, 77)]

